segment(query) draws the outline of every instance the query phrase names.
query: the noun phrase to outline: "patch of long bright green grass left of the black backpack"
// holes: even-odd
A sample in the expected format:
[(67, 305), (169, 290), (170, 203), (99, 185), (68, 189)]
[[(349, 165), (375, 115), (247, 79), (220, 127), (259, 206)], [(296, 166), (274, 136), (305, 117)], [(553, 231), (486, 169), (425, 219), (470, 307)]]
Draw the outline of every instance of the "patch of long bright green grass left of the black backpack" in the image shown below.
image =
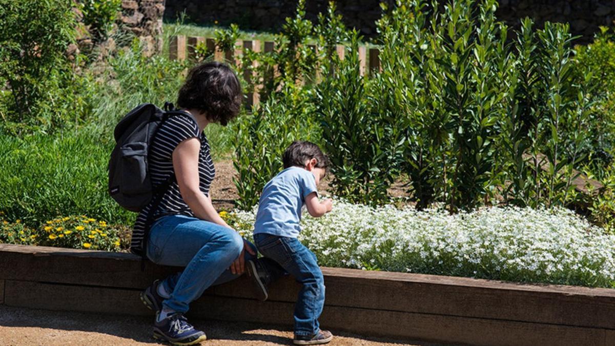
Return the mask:
[(88, 131), (18, 139), (0, 135), (0, 211), (33, 227), (60, 215), (130, 224), (135, 214), (108, 196), (113, 143)]

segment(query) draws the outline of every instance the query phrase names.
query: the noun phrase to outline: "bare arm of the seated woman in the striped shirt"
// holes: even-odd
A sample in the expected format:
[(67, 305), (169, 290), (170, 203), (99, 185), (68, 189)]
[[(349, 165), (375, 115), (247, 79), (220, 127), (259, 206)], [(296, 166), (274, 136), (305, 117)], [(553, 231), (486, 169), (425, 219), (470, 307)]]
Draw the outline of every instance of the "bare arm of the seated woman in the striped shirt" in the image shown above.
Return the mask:
[(231, 228), (214, 209), (212, 199), (200, 191), (199, 150), (200, 141), (196, 138), (180, 142), (173, 150), (173, 170), (180, 185), (181, 198), (199, 219)]

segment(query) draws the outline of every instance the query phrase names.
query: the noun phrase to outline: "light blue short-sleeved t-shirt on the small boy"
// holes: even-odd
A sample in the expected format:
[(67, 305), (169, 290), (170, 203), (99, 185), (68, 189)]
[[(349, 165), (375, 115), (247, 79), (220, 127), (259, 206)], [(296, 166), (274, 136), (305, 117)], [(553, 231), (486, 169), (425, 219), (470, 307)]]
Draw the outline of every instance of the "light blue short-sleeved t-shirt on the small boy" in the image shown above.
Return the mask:
[(288, 167), (279, 172), (263, 189), (254, 234), (296, 238), (301, 231), (301, 207), (312, 192), (317, 192), (312, 172), (301, 167)]

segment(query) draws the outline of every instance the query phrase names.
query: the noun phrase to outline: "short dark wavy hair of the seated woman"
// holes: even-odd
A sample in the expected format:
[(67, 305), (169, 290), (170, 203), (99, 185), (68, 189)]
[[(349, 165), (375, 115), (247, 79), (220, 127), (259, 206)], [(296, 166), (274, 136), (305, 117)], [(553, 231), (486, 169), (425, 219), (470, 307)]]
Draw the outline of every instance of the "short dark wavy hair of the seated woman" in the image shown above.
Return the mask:
[(188, 72), (177, 106), (197, 109), (209, 121), (226, 126), (239, 114), (242, 97), (241, 84), (231, 68), (223, 63), (207, 62)]

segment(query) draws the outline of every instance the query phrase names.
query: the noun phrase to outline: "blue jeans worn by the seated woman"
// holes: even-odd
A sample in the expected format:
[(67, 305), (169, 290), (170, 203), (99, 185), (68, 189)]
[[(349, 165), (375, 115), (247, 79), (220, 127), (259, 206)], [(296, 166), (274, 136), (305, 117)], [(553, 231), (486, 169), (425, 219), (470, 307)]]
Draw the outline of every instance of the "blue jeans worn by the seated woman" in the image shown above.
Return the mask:
[[(243, 249), (244, 239), (231, 228), (185, 215), (156, 220), (149, 230), (148, 258), (156, 264), (185, 267), (162, 281), (170, 292), (162, 306), (185, 313), (205, 289), (238, 278), (229, 267)], [(245, 260), (256, 259), (247, 251), (244, 256)]]

